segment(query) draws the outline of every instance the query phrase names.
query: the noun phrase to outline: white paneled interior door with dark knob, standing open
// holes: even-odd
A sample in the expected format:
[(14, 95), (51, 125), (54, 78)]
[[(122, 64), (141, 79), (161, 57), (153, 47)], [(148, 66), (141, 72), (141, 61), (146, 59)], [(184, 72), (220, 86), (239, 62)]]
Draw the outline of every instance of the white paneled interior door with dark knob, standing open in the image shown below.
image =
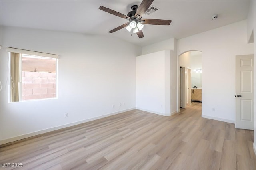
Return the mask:
[(254, 128), (253, 55), (236, 56), (236, 128)]

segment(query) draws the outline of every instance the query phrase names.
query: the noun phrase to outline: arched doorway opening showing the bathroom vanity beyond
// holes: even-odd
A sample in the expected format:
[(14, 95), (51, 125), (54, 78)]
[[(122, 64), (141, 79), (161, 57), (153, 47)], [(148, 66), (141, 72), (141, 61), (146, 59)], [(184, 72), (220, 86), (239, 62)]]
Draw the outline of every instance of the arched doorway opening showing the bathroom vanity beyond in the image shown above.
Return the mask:
[[(202, 106), (202, 52), (186, 51), (179, 55), (179, 107)], [(199, 103), (198, 103), (199, 102)]]

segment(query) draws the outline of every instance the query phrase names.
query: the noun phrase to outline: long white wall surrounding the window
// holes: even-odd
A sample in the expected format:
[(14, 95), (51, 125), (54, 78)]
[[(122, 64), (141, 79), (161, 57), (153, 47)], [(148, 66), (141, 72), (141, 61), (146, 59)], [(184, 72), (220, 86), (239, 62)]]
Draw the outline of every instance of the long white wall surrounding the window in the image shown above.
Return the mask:
[[(141, 47), (111, 36), (15, 27), (2, 27), (1, 45), (2, 144), (136, 107)], [(59, 55), (59, 98), (8, 103), (7, 47)]]

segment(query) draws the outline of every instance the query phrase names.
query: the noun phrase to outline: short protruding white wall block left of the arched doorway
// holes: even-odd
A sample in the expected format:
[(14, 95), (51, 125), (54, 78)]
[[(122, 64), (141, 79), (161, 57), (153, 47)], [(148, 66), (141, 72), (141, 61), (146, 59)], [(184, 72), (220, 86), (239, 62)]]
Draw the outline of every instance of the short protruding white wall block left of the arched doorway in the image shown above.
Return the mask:
[(136, 57), (136, 108), (170, 115), (170, 51)]

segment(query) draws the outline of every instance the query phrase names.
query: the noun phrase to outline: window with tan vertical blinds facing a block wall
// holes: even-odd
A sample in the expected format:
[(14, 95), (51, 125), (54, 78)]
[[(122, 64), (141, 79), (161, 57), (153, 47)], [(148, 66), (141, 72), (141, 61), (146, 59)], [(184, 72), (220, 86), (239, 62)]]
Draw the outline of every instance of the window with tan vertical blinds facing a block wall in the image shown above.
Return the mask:
[(58, 55), (8, 48), (10, 102), (57, 97)]

